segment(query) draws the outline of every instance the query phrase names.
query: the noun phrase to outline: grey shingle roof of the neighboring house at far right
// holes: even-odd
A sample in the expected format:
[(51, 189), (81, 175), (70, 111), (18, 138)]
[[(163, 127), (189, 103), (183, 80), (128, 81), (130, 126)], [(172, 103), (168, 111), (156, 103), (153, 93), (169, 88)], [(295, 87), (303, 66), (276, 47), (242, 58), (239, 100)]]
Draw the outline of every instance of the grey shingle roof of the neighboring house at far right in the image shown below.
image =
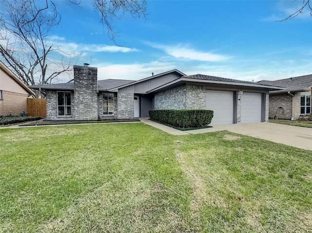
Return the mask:
[(262, 80), (260, 84), (278, 85), (288, 89), (304, 89), (312, 86), (312, 74), (275, 81)]

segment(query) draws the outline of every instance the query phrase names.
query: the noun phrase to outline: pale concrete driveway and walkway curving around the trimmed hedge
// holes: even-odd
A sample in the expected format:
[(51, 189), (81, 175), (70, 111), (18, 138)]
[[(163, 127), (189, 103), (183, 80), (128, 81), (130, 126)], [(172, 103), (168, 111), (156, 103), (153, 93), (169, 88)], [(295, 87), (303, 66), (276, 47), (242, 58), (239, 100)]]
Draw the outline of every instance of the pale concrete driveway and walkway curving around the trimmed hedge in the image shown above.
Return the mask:
[(181, 131), (175, 128), (167, 127), (156, 122), (140, 119), (141, 122), (159, 128), (173, 135), (187, 135), (197, 133), (209, 133), (215, 131), (230, 131), (256, 138), (266, 139), (276, 143), (310, 149), (312, 150), (312, 128), (287, 126), (269, 122), (261, 123), (239, 123), (229, 125), (215, 125), (212, 128), (203, 128), (195, 130)]

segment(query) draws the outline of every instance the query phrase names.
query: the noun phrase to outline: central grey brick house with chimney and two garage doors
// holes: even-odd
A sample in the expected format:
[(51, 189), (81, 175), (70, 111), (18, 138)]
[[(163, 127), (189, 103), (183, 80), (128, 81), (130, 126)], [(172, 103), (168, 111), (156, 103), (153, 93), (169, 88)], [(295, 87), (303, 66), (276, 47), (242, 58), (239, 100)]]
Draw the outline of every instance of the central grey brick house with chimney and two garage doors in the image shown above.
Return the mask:
[(131, 119), (153, 109), (211, 109), (212, 124), (264, 122), (269, 91), (282, 88), (174, 69), (131, 80), (97, 80), (97, 68), (74, 65), (74, 82), (33, 85), (46, 93), (47, 120)]

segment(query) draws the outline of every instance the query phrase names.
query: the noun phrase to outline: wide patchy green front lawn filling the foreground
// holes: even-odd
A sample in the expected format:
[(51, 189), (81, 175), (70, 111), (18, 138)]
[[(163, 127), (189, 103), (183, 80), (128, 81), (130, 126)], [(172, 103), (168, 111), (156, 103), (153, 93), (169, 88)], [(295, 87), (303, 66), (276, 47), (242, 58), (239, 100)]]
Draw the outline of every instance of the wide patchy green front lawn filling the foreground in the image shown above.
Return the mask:
[(311, 232), (312, 151), (142, 123), (0, 129), (0, 232)]

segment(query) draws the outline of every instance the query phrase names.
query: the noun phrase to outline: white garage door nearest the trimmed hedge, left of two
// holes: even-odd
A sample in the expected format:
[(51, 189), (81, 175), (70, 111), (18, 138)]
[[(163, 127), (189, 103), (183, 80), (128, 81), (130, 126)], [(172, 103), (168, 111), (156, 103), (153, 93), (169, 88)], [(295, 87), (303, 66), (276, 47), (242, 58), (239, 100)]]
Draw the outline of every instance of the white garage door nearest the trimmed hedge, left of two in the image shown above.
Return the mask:
[(214, 110), (211, 125), (233, 123), (233, 91), (207, 90), (206, 108)]

